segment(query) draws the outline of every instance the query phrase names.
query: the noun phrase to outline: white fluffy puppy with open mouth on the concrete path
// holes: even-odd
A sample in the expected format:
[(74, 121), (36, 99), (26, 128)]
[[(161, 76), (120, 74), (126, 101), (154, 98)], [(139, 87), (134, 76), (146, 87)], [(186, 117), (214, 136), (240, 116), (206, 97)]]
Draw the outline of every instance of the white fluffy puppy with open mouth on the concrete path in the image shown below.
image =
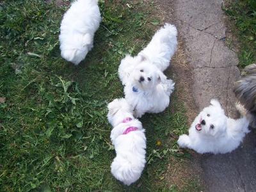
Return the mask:
[(225, 154), (235, 150), (245, 134), (250, 132), (246, 111), (239, 104), (236, 107), (243, 116), (234, 120), (225, 115), (218, 100), (212, 99), (211, 105), (196, 116), (189, 128), (189, 135), (183, 134), (179, 137), (179, 146), (192, 148), (200, 154)]

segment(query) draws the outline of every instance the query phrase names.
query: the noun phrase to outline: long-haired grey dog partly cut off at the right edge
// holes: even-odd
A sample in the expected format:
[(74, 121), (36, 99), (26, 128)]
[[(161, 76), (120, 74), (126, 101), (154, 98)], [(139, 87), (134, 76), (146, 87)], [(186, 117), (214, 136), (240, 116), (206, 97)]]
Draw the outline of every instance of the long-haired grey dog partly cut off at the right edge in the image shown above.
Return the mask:
[(244, 108), (251, 113), (251, 126), (256, 127), (256, 64), (244, 68), (246, 73), (235, 83), (234, 93)]

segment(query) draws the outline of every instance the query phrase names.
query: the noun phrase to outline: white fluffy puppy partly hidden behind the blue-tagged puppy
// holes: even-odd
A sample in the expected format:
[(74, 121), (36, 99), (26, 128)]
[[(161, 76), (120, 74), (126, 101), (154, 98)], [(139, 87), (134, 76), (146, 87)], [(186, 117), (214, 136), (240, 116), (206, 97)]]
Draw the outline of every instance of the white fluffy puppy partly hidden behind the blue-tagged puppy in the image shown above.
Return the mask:
[(139, 52), (138, 56), (132, 57), (127, 54), (118, 68), (118, 75), (123, 84), (129, 78), (132, 70), (141, 61), (156, 65), (162, 72), (170, 65), (170, 60), (177, 48), (177, 29), (172, 24), (165, 24), (153, 36), (150, 43)]

